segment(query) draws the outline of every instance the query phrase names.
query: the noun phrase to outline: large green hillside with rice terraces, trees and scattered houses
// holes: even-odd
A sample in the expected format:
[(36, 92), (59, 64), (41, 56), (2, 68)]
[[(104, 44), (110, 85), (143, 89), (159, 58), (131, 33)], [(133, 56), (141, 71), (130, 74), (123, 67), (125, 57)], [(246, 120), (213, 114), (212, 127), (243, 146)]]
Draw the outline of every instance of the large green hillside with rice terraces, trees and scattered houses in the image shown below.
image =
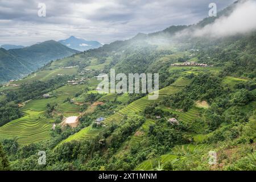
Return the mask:
[[(256, 32), (177, 36), (214, 19), (105, 44), (2, 86), (4, 167), (256, 170)], [(110, 68), (159, 73), (158, 99), (98, 93), (96, 76)], [(46, 152), (46, 164), (38, 164), (39, 151)], [(217, 157), (213, 164), (210, 151)]]

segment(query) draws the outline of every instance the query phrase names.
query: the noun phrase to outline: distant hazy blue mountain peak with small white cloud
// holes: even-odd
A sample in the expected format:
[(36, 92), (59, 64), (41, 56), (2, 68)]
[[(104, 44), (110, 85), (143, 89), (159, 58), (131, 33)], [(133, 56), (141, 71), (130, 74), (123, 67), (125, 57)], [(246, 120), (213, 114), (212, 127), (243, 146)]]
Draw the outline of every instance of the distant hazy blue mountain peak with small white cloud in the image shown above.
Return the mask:
[(59, 43), (69, 48), (76, 49), (78, 51), (86, 51), (88, 49), (94, 49), (102, 46), (102, 44), (97, 41), (79, 39), (75, 36), (71, 36), (70, 38), (65, 40), (60, 40)]

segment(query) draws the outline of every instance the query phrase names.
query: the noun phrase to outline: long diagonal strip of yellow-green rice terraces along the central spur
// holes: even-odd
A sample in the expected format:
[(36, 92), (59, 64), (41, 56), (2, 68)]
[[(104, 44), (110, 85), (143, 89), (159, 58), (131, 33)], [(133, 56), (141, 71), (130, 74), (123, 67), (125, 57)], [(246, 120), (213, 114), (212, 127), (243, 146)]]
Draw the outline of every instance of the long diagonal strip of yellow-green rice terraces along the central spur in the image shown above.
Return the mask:
[[(167, 88), (159, 90), (159, 98), (158, 99), (160, 99), (163, 96), (167, 96), (169, 94), (174, 94), (174, 93), (179, 92), (179, 90), (182, 89), (188, 83), (189, 83), (188, 79), (179, 78), (171, 86), (168, 86)], [(139, 100), (136, 100), (136, 101), (132, 102), (131, 104), (127, 105), (126, 107), (124, 107), (123, 109), (119, 110), (117, 113), (110, 115), (110, 117), (105, 119), (104, 123), (106, 125), (110, 125), (111, 123), (119, 123), (123, 119), (124, 115), (138, 114), (139, 112), (143, 111), (146, 108), (146, 106), (152, 104), (153, 102), (155, 102), (155, 100), (148, 100), (147, 96), (140, 98)], [(78, 133), (72, 135), (71, 139), (72, 138), (75, 140), (80, 140), (81, 138), (90, 139), (90, 137), (93, 138), (98, 133), (100, 133), (100, 131), (102, 131), (102, 129), (98, 129), (97, 132), (91, 131), (92, 129), (90, 129), (89, 131), (86, 131), (86, 132), (85, 132), (85, 130), (87, 130), (87, 128), (82, 129)], [(81, 137), (81, 136), (83, 136), (83, 137)], [(71, 139), (69, 139), (69, 141)]]

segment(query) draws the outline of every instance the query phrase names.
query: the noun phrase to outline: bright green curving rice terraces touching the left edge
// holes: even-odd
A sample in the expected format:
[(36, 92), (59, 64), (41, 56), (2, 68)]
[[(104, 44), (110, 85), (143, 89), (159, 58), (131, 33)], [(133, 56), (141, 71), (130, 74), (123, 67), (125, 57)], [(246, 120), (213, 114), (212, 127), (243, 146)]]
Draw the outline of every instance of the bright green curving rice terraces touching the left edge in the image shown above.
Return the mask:
[(24, 116), (0, 127), (0, 138), (17, 138), (20, 145), (49, 139), (52, 121), (43, 111), (26, 111)]

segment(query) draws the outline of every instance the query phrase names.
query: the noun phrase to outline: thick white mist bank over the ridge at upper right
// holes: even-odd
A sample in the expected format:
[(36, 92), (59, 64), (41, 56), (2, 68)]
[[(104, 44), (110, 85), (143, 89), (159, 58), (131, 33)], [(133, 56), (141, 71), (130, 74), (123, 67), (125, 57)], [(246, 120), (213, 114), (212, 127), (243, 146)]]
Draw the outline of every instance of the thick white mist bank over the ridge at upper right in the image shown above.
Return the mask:
[(224, 38), (253, 32), (256, 30), (255, 9), (256, 2), (253, 0), (237, 1), (218, 12), (216, 17), (205, 18), (196, 25), (177, 32), (176, 37)]

